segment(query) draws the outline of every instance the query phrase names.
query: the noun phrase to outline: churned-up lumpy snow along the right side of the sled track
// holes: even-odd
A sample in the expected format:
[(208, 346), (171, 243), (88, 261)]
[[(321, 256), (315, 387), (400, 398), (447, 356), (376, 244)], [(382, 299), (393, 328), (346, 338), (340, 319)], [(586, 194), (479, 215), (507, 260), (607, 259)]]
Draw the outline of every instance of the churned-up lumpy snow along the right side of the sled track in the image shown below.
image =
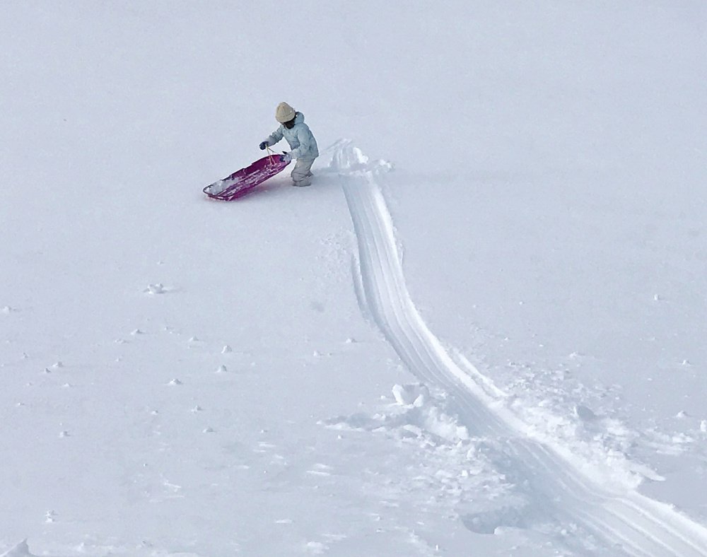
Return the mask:
[[(604, 471), (600, 481), (636, 488), (642, 481), (663, 481), (653, 469), (656, 453), (678, 455), (694, 450), (699, 437), (692, 430), (660, 431), (648, 424), (631, 428), (621, 419), (623, 396), (618, 385), (583, 385), (573, 371), (581, 355), (556, 369), (534, 363), (509, 362), (506, 389), (509, 409), (538, 438), (565, 447), (568, 459), (589, 474)], [(499, 370), (503, 373), (503, 370)], [(679, 418), (679, 416), (677, 416)]]

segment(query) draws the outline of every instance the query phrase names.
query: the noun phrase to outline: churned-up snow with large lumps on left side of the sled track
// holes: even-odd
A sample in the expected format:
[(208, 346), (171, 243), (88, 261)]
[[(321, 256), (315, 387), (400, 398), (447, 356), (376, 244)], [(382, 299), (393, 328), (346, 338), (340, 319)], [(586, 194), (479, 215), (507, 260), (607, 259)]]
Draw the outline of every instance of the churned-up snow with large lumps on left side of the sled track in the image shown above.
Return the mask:
[[(371, 491), (404, 499), (422, 512), (461, 520), (480, 534), (543, 520), (522, 488), (499, 471), (496, 463), (506, 460), (503, 442), (470, 435), (449, 410), (444, 392), (409, 384), (395, 385), (392, 395), (392, 401), (383, 397), (385, 404), (373, 414), (325, 422), (328, 428), (384, 435), (395, 443), (390, 459), (403, 464), (388, 462), (387, 475)], [(390, 470), (397, 474), (391, 477)]]

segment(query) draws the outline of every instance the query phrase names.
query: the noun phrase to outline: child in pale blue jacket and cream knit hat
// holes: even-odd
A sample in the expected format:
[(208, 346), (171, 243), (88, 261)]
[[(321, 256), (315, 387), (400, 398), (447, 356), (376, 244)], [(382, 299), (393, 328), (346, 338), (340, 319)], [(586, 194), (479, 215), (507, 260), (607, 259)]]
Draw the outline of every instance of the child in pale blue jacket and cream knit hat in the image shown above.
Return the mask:
[(274, 145), (284, 137), (290, 144), (291, 151), (282, 155), (282, 159), (287, 162), (293, 158), (297, 159), (295, 168), (290, 174), (292, 185), (309, 186), (312, 184), (312, 163), (319, 156), (317, 140), (314, 139), (309, 126), (305, 124), (302, 112), (295, 112), (295, 109), (286, 102), (277, 105), (275, 119), (281, 125), (260, 143), (260, 149)]

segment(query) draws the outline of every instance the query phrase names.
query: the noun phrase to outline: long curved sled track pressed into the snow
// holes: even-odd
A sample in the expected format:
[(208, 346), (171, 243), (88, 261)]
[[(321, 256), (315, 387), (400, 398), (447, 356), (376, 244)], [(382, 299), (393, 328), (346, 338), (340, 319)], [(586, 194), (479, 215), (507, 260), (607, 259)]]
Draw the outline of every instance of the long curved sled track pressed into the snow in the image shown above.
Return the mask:
[[(375, 182), (375, 165), (349, 141), (334, 146), (332, 170), (354, 223), (363, 288), (362, 311), (378, 325), (419, 380), (444, 389), (470, 432), (501, 447), (499, 471), (527, 495), (521, 515), (498, 525), (560, 524), (579, 532), (563, 538), (569, 548), (601, 555), (707, 556), (707, 529), (670, 505), (642, 496), (602, 469), (580, 467), (568, 447), (532, 430), (508, 409), (471, 364), (450, 356), (416, 310), (407, 291), (392, 218)], [(609, 486), (609, 487), (607, 487)], [(474, 529), (476, 517), (462, 517)], [(481, 530), (478, 530), (481, 531)], [(493, 524), (490, 529), (493, 532)], [(584, 535), (580, 534), (583, 533)], [(578, 535), (579, 534), (579, 535)]]

